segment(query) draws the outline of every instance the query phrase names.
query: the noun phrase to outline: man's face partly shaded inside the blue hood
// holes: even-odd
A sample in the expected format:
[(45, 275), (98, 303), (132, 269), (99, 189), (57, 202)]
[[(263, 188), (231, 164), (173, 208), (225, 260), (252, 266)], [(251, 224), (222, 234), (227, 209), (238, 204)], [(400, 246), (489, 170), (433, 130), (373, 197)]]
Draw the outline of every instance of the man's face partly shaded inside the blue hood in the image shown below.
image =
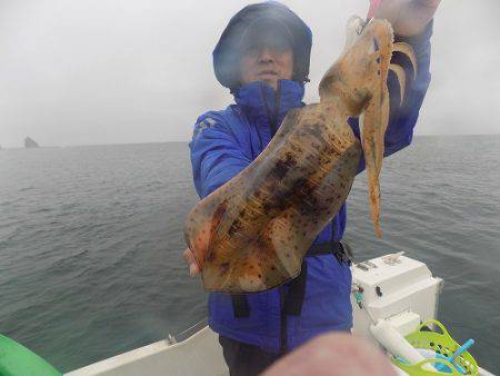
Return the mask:
[(250, 47), (241, 58), (241, 83), (264, 81), (274, 90), (278, 80), (290, 80), (293, 75), (293, 53), (290, 47)]

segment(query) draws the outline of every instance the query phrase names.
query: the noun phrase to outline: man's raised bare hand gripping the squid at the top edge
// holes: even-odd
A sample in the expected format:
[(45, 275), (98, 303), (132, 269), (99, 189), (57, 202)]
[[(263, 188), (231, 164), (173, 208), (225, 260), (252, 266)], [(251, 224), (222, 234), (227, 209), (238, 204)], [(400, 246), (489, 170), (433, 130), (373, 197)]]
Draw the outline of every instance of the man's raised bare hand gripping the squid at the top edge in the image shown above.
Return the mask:
[(441, 0), (382, 0), (373, 18), (387, 19), (394, 33), (413, 37), (421, 33), (434, 17)]

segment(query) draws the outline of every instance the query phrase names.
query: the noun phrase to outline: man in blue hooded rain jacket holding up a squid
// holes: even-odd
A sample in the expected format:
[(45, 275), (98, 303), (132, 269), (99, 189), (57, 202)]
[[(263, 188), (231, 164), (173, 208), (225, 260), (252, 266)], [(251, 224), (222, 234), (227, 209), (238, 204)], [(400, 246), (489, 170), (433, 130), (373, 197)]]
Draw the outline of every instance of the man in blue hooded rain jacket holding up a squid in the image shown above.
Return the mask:
[[(413, 4), (419, 1), (432, 0), (413, 0)], [(410, 145), (430, 83), (431, 19), (439, 0), (433, 3), (418, 26), (406, 30), (410, 37), (396, 37), (412, 46), (418, 73), (413, 81), (408, 80), (402, 106), (397, 79), (389, 76), (391, 110), (386, 157)], [(304, 106), (311, 44), (309, 27), (278, 2), (248, 6), (230, 20), (213, 51), (213, 67), (219, 82), (234, 96), (234, 103), (201, 115), (190, 142), (200, 198), (248, 167), (269, 144), (287, 111)], [(411, 65), (403, 56), (394, 55), (393, 62), (404, 67), (408, 78), (412, 77)], [(359, 137), (358, 119), (351, 118), (349, 123)], [(363, 169), (361, 160), (359, 171)], [(210, 294), (209, 326), (219, 334), (231, 375), (257, 375), (319, 334), (351, 329), (350, 261), (339, 243), (346, 222), (344, 204), (332, 224), (318, 235), (312, 248), (320, 251), (307, 255), (297, 280), (246, 296)], [(191, 273), (198, 273), (189, 249), (184, 257)]]

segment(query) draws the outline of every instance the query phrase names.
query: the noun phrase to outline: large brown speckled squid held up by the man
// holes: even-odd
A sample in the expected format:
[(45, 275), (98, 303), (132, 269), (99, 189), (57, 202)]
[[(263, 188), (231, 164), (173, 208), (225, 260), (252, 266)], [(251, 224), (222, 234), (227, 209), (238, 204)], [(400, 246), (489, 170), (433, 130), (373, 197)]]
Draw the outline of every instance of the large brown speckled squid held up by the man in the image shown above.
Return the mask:
[[(344, 202), (362, 152), (380, 234), (392, 38), (384, 20), (364, 26), (351, 18), (346, 49), (321, 80), (320, 103), (289, 111), (262, 154), (188, 215), (184, 236), (207, 290), (262, 291), (297, 277), (316, 236)], [(362, 112), (361, 148), (347, 120)]]

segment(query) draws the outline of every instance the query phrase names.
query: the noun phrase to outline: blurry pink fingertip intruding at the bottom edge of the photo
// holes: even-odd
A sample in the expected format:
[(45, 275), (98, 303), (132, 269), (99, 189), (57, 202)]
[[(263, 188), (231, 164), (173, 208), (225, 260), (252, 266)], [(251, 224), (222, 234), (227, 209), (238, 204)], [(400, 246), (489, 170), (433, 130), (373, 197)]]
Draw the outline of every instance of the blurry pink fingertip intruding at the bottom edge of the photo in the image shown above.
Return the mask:
[(346, 333), (319, 336), (276, 362), (261, 376), (396, 376), (387, 356)]

